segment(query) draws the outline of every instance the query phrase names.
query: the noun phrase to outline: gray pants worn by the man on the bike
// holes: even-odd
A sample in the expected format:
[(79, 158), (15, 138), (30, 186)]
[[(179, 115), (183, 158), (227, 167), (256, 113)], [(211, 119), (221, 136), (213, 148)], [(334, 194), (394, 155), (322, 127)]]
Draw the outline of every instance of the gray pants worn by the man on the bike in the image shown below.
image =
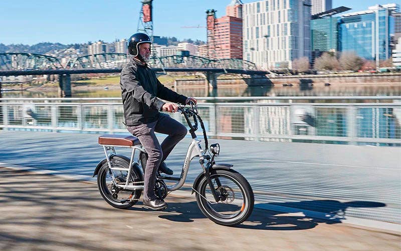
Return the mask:
[[(183, 124), (163, 113), (161, 113), (159, 119), (154, 122), (128, 127), (127, 129), (132, 135), (139, 139), (148, 154), (145, 168), (143, 199), (154, 200), (156, 195), (153, 189), (156, 182), (157, 169), (160, 163), (167, 158), (175, 145), (185, 137), (187, 130)], [(168, 136), (159, 144), (159, 141), (154, 135), (155, 132)]]

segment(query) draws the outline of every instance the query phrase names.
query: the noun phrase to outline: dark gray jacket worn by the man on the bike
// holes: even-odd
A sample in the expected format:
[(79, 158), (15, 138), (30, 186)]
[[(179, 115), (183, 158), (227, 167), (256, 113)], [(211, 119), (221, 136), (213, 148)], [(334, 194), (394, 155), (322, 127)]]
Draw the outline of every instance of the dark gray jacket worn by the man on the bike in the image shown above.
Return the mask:
[(127, 126), (156, 121), (165, 103), (157, 97), (181, 104), (187, 98), (162, 85), (148, 66), (133, 58), (121, 71), (120, 87)]

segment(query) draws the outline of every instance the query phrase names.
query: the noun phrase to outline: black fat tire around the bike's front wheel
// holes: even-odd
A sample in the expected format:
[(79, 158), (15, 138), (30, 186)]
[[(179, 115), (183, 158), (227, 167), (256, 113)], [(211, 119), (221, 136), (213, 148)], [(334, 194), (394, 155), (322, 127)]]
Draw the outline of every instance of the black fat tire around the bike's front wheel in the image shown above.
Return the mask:
[[(238, 217), (238, 218), (236, 217), (232, 221), (217, 219), (217, 216), (215, 214), (213, 214), (212, 212), (210, 212), (210, 209), (205, 207), (205, 205), (203, 203), (203, 201), (205, 201), (205, 199), (202, 196), (200, 196), (198, 193), (196, 193), (196, 203), (197, 203), (200, 211), (202, 211), (202, 213), (206, 217), (208, 217), (210, 220), (214, 221), (217, 224), (224, 225), (224, 226), (235, 226), (235, 225), (241, 224), (246, 219), (248, 219), (248, 217), (251, 215), (251, 213), (254, 209), (255, 198), (254, 198), (254, 193), (252, 191), (252, 187), (249, 184), (249, 182), (247, 181), (247, 179), (245, 179), (244, 176), (242, 176), (240, 173), (238, 173), (232, 169), (216, 170), (215, 173), (211, 174), (211, 178), (213, 178), (215, 176), (219, 176), (219, 175), (225, 175), (225, 176), (231, 177), (236, 182), (238, 182), (244, 189), (243, 196), (244, 196), (244, 200), (246, 199), (247, 201), (246, 201), (246, 206), (244, 208), (244, 212), (240, 214), (241, 217)], [(201, 193), (203, 192), (203, 194), (202, 194), (203, 196), (205, 196), (206, 189), (203, 191), (201, 191), (200, 189), (205, 185), (205, 183), (206, 183), (206, 186), (209, 187), (206, 177), (203, 176), (201, 178), (201, 180), (198, 182), (198, 185), (196, 187), (196, 191), (201, 192)]]

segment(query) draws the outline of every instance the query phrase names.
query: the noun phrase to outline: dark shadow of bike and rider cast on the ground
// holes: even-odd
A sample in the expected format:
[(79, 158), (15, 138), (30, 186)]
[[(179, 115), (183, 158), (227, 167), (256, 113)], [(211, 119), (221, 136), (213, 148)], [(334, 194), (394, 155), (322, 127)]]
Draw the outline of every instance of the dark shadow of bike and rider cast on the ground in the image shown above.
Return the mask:
[[(293, 212), (303, 213), (302, 216), (288, 215), (287, 213), (276, 212), (271, 210), (263, 210), (255, 208), (252, 215), (244, 223), (237, 225), (238, 228), (261, 229), (261, 230), (304, 230), (311, 229), (319, 223), (336, 224), (341, 223), (345, 219), (345, 210), (348, 207), (384, 207), (384, 203), (372, 201), (349, 201), (339, 202), (337, 200), (308, 200), (300, 202), (283, 202), (283, 203), (267, 203), (268, 205), (276, 205), (290, 207)], [(305, 216), (311, 210), (319, 209), (321, 217)], [(129, 210), (151, 211), (143, 209), (141, 202), (137, 206)], [(193, 222), (194, 219), (206, 218), (200, 212), (195, 201), (174, 203), (169, 202), (168, 208), (160, 211), (162, 215), (159, 218), (167, 219), (175, 222)], [(166, 214), (163, 214), (166, 213)]]

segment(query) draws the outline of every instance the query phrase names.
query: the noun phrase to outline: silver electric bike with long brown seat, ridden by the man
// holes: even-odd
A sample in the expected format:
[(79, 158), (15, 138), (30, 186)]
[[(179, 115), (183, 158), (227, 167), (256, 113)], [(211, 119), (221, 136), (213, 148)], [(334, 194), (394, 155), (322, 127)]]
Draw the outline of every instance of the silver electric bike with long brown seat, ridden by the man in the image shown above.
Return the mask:
[[(190, 107), (181, 105), (177, 111), (184, 116), (192, 141), (179, 177), (163, 176), (157, 172), (154, 188), (156, 196), (164, 199), (169, 192), (180, 189), (185, 182), (189, 165), (196, 157), (202, 172), (195, 178), (191, 189), (202, 213), (221, 225), (234, 226), (242, 223), (254, 208), (254, 193), (250, 184), (244, 176), (232, 169), (233, 165), (216, 163), (220, 145), (212, 144), (208, 149), (204, 122), (199, 116), (196, 104), (190, 102)], [(205, 149), (202, 149), (201, 141), (195, 134), (198, 121), (203, 130)], [(133, 206), (140, 200), (143, 190), (143, 173), (147, 160), (145, 149), (134, 136), (103, 135), (99, 137), (99, 145), (103, 147), (106, 156), (99, 162), (93, 174), (93, 177), (97, 175), (100, 194), (113, 207)], [(116, 147), (131, 148), (131, 158), (116, 154)], [(137, 159), (136, 151), (139, 152)]]

